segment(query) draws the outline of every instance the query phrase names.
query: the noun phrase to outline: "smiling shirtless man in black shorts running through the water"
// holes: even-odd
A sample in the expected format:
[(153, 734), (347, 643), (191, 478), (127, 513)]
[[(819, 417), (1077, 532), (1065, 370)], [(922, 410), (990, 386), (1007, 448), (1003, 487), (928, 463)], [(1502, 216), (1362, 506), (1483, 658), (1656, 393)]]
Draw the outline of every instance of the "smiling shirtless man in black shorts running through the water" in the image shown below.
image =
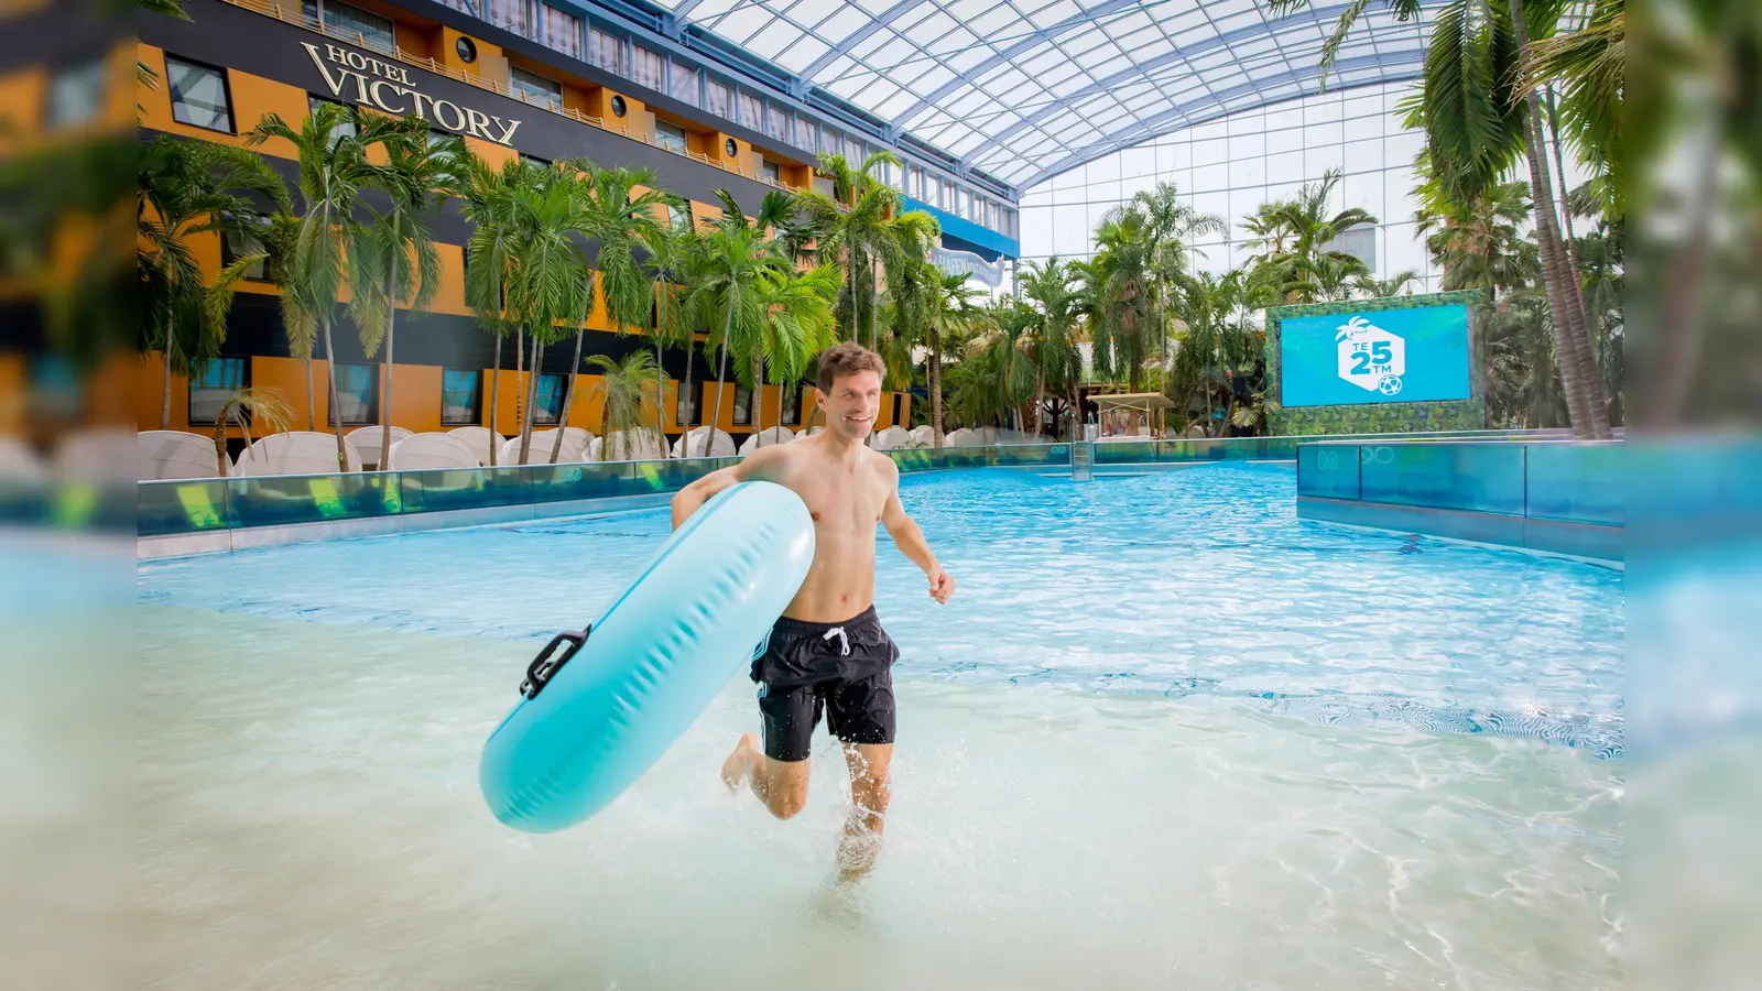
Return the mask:
[(809, 751), (821, 712), (844, 744), (855, 809), (839, 866), (846, 878), (874, 866), (886, 818), (893, 758), (893, 661), (899, 649), (876, 617), (876, 524), (930, 578), (946, 603), (955, 580), (936, 563), (918, 524), (899, 501), (899, 466), (863, 446), (881, 409), (881, 356), (839, 344), (819, 358), (816, 402), (826, 428), (803, 441), (758, 448), (735, 467), (687, 485), (673, 497), (678, 529), (712, 496), (740, 481), (775, 481), (814, 517), (807, 580), (752, 661), (763, 744), (740, 737), (722, 764), (729, 790), (749, 785), (777, 818), (807, 806)]

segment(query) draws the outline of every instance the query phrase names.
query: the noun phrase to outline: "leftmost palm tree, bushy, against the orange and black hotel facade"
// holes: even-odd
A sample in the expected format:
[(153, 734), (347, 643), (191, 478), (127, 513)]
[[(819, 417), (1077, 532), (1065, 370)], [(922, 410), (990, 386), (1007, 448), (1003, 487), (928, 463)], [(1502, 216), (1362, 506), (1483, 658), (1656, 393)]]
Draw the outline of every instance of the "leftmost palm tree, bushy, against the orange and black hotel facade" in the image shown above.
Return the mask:
[[(146, 326), (164, 354), (159, 428), (171, 428), (171, 376), (190, 374), (218, 353), (233, 287), (264, 261), (255, 192), (287, 206), (287, 185), (259, 155), (227, 145), (159, 136), (136, 164), (136, 268)], [(190, 249), (197, 235), (236, 238), (245, 247), (210, 284)]]

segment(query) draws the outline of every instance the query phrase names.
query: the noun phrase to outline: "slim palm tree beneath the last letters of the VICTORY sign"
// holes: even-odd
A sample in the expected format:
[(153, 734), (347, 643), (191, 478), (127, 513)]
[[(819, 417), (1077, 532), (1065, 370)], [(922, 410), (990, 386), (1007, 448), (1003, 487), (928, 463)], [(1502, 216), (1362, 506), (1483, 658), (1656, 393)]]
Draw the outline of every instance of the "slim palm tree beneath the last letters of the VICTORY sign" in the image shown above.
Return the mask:
[[(507, 282), (515, 245), (520, 240), (515, 189), (537, 182), (537, 176), (534, 166), (523, 159), (507, 159), (500, 168), (493, 168), (476, 155), (463, 162), (462, 173), (460, 213), (470, 224), (470, 240), (465, 245), (465, 305), (495, 337), (490, 432), (500, 437), (497, 414), (502, 397), (502, 339), (515, 330), (506, 312)], [(497, 446), (490, 444), (490, 467), (495, 467)]]

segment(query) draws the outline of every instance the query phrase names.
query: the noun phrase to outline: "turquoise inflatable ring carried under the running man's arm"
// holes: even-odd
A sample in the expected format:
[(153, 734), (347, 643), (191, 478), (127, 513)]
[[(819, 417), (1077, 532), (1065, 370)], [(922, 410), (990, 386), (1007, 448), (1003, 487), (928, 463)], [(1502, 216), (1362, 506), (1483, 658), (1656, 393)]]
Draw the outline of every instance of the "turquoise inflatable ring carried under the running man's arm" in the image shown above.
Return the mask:
[(599, 622), (552, 640), (483, 744), (490, 811), (567, 829), (643, 776), (752, 659), (814, 561), (814, 520), (770, 481), (722, 490)]

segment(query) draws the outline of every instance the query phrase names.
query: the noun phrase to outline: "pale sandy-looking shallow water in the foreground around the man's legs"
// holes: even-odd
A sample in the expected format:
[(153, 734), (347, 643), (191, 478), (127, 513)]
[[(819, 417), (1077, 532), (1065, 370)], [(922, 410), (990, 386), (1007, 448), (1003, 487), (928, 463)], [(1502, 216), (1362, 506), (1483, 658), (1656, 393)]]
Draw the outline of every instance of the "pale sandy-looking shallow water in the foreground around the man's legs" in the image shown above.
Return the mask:
[(874, 875), (717, 767), (742, 681), (604, 815), (500, 827), (530, 649), (143, 607), (153, 987), (1609, 987), (1619, 762), (1533, 739), (900, 677)]

